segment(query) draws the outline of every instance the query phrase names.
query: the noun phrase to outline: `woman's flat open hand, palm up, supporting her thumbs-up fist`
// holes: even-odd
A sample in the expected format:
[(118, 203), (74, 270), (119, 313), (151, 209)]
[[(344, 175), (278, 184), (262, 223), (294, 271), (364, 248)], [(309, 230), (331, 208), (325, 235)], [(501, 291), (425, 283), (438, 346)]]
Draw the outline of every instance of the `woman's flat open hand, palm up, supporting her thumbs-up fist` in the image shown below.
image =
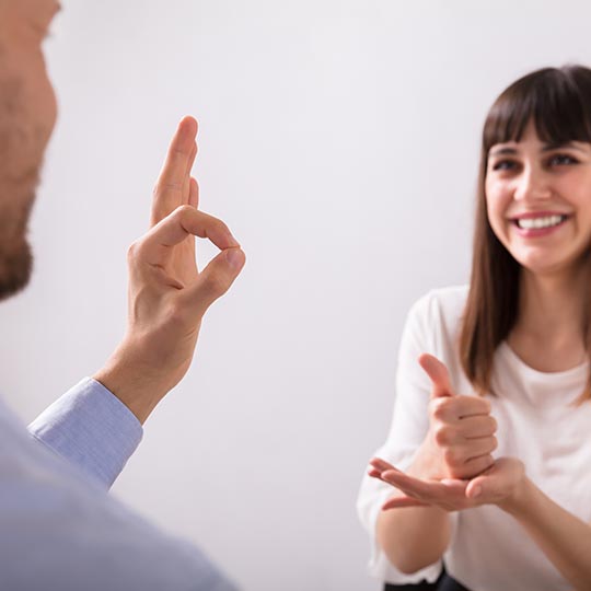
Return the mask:
[(523, 462), (514, 457), (499, 457), (471, 480), (424, 480), (405, 474), (379, 457), (370, 461), (369, 475), (392, 485), (402, 494), (389, 499), (383, 510), (439, 507), (445, 511), (459, 511), (479, 505), (508, 508), (525, 482)]

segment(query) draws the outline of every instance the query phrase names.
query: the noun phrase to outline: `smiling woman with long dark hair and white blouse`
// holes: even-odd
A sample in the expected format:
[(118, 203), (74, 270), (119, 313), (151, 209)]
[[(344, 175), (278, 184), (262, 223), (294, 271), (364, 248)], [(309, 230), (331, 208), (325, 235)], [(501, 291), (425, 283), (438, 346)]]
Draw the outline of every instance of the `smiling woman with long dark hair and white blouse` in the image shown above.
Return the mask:
[(591, 70), (497, 99), (478, 187), (470, 287), (406, 323), (358, 500), (371, 570), (386, 589), (590, 590)]

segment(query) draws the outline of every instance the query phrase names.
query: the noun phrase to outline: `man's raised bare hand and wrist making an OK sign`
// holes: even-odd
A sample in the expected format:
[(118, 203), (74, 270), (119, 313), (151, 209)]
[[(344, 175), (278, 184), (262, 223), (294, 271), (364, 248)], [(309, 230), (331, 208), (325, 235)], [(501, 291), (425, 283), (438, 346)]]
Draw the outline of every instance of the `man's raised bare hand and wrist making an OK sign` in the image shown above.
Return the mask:
[[(151, 229), (129, 248), (126, 335), (94, 375), (141, 422), (185, 375), (206, 310), (228, 291), (245, 263), (228, 227), (197, 209), (199, 188), (190, 176), (196, 135), (197, 121), (185, 117), (154, 188)], [(201, 271), (195, 236), (221, 250)]]

